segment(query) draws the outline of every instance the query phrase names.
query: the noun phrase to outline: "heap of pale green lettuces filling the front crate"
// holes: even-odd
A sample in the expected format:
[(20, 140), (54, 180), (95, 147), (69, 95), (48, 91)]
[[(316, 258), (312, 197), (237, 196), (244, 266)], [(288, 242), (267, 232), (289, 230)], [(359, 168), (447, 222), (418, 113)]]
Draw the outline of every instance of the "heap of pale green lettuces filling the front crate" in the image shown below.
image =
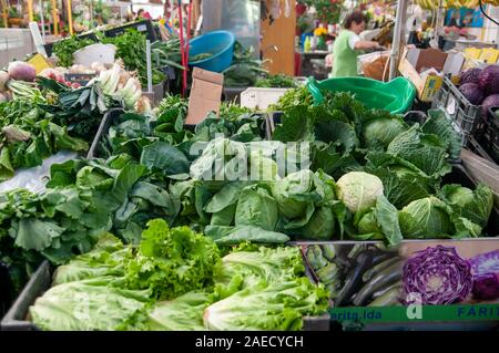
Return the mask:
[[(103, 236), (91, 252), (57, 270), (55, 285), (30, 308), (33, 323), (43, 330), (299, 330), (304, 315), (326, 311), (327, 292), (303, 277), (298, 248), (238, 247), (218, 262), (216, 247), (215, 255), (211, 246), (205, 248), (208, 239), (193, 235), (186, 228), (167, 229), (156, 219), (144, 231), (136, 253), (113, 236)], [(197, 261), (206, 253), (214, 255), (216, 266)], [(153, 276), (147, 290), (130, 290), (130, 270), (143, 257), (154, 258), (153, 268), (161, 263), (155, 273), (163, 276), (162, 281)], [(180, 267), (167, 266), (175, 261)], [(141, 271), (151, 270), (152, 262), (142, 264)], [(171, 301), (155, 300), (154, 288), (163, 287), (154, 284), (169, 285), (175, 278), (189, 282), (193, 271), (204, 271), (197, 289)], [(179, 281), (175, 288), (185, 285)], [(232, 307), (236, 308), (226, 312)]]

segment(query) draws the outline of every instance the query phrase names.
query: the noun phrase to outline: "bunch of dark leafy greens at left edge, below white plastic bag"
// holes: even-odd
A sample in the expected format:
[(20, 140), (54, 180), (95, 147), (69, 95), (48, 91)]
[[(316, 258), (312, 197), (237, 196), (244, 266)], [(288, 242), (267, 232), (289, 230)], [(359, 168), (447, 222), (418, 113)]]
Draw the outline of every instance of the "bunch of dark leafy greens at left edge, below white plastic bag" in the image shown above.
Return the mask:
[(55, 188), (34, 195), (13, 190), (0, 195), (0, 235), (9, 233), (21, 257), (30, 250), (61, 263), (89, 251), (111, 228), (105, 205), (85, 189)]

